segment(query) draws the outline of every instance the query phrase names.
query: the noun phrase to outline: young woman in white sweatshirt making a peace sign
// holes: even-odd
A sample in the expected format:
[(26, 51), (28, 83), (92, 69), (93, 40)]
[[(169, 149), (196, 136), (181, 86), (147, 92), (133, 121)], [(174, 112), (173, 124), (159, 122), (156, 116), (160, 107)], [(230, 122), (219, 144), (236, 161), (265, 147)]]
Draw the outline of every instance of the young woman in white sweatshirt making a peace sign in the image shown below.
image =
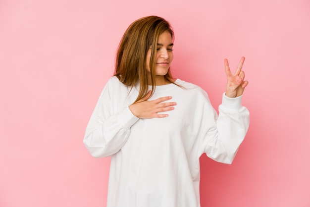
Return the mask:
[(107, 207), (200, 207), (199, 158), (232, 163), (249, 127), (241, 105), (248, 82), (227, 76), (219, 115), (200, 87), (173, 79), (173, 31), (157, 16), (126, 30), (86, 129), (95, 157), (111, 156)]

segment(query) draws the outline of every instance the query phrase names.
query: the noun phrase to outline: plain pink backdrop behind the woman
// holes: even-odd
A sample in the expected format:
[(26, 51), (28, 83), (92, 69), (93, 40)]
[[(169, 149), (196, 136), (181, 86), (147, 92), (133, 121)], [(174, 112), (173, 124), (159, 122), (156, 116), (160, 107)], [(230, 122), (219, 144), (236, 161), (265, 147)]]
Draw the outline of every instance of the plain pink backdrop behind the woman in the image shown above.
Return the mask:
[(104, 207), (109, 158), (82, 140), (134, 20), (175, 34), (175, 77), (217, 109), (241, 56), (249, 132), (232, 165), (201, 158), (202, 207), (310, 207), (309, 0), (0, 0), (0, 207)]

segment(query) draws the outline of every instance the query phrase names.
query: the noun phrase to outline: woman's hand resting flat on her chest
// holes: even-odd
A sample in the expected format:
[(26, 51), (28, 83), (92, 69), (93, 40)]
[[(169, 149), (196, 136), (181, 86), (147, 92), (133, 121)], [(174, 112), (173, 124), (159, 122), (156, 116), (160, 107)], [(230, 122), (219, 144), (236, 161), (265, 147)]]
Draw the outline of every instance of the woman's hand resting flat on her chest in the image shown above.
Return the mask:
[(149, 91), (142, 99), (138, 102), (131, 104), (129, 109), (138, 118), (164, 118), (168, 114), (162, 114), (158, 112), (171, 111), (174, 109), (175, 102), (165, 102), (172, 99), (172, 97), (161, 97), (153, 101), (147, 101), (151, 97), (152, 91)]

